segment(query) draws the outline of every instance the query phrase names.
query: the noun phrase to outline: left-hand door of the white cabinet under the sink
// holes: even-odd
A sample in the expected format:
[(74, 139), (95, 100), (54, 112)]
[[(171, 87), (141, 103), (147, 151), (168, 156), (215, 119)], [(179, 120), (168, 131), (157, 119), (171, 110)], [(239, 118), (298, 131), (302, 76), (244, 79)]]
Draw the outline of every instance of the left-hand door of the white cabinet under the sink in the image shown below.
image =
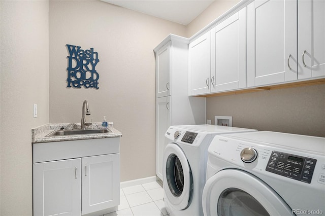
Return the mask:
[(34, 216), (81, 214), (81, 159), (33, 165)]

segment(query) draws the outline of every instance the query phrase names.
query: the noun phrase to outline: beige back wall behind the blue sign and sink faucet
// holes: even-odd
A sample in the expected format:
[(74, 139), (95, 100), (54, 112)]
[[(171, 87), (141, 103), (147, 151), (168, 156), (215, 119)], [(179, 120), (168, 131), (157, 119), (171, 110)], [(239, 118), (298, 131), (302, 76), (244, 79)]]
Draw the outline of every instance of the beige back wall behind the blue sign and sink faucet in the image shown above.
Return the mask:
[[(101, 1), (50, 1), (50, 123), (114, 122), (120, 142), (121, 181), (155, 175), (155, 48), (185, 26)], [(67, 88), (66, 44), (94, 48), (99, 89)]]

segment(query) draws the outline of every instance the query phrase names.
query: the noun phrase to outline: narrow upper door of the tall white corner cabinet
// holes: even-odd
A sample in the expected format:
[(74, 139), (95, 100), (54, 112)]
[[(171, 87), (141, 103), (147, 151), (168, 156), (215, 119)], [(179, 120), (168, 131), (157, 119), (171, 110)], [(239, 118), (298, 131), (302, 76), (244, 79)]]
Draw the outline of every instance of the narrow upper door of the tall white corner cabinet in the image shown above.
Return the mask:
[(171, 95), (171, 42), (156, 53), (156, 97)]

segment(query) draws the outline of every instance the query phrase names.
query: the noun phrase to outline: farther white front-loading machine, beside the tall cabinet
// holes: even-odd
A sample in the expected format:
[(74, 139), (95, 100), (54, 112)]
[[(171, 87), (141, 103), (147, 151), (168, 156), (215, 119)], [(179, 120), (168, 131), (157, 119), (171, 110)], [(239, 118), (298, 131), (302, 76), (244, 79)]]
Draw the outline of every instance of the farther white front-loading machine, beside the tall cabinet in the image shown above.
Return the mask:
[(216, 125), (171, 126), (164, 151), (164, 200), (170, 215), (200, 216), (207, 150), (216, 134), (255, 131)]

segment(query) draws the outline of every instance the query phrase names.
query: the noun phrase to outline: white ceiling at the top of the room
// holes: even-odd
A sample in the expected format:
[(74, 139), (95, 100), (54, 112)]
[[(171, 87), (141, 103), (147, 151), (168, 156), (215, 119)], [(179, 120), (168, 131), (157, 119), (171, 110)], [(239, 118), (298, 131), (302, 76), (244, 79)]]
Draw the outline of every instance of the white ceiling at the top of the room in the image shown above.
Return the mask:
[(215, 0), (102, 0), (113, 5), (187, 25)]

